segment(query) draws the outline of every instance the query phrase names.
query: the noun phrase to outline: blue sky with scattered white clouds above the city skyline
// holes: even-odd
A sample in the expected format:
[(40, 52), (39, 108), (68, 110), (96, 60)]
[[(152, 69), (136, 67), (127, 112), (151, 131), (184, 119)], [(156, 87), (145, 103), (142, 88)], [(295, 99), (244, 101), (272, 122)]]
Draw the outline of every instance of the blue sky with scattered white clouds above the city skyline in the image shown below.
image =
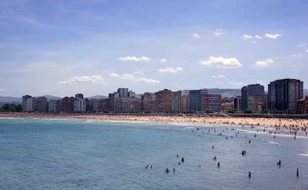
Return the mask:
[(0, 96), (308, 89), (307, 0), (0, 0)]

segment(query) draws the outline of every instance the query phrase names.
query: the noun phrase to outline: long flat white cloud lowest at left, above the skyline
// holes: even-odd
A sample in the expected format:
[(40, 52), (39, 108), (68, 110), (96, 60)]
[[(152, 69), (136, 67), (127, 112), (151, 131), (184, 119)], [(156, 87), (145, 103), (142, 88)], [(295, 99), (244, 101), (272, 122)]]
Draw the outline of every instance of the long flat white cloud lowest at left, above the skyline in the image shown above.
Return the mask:
[(76, 76), (66, 81), (60, 81), (58, 85), (72, 85), (77, 83), (93, 83), (93, 84), (106, 84), (100, 75), (95, 76)]

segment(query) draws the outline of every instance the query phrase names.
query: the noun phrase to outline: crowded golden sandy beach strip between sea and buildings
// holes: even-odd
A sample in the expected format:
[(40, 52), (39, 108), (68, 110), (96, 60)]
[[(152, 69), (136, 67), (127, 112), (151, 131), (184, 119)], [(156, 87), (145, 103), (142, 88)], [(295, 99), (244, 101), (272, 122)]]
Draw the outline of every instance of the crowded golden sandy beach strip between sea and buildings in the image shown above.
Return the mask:
[[(183, 115), (138, 115), (138, 114), (78, 114), (78, 113), (1, 113), (0, 118), (73, 118), (82, 120), (119, 120), (119, 121), (162, 121), (162, 122), (186, 122), (242, 125), (250, 127), (288, 127), (305, 128), (308, 126), (307, 119), (281, 119), (281, 118), (245, 118), (245, 117), (223, 117), (223, 116), (183, 116)], [(306, 131), (306, 130), (305, 130)]]

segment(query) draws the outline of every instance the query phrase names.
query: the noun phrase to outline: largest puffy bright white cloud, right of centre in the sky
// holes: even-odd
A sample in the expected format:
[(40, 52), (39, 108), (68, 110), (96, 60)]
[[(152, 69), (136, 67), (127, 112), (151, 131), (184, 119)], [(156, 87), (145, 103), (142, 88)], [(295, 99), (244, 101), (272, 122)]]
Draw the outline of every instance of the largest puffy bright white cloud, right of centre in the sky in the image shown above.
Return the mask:
[(214, 56), (210, 57), (208, 61), (201, 60), (200, 63), (208, 66), (216, 66), (218, 68), (237, 68), (242, 66), (236, 58), (225, 59), (223, 57), (216, 58)]

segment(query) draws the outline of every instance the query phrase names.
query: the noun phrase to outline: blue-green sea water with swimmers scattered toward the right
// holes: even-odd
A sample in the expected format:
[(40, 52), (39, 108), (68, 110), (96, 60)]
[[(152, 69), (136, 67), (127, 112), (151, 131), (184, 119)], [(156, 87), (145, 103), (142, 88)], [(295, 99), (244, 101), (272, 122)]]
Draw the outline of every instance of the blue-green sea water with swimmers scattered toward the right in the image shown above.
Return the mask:
[(0, 189), (307, 190), (306, 133), (263, 128), (0, 119)]

